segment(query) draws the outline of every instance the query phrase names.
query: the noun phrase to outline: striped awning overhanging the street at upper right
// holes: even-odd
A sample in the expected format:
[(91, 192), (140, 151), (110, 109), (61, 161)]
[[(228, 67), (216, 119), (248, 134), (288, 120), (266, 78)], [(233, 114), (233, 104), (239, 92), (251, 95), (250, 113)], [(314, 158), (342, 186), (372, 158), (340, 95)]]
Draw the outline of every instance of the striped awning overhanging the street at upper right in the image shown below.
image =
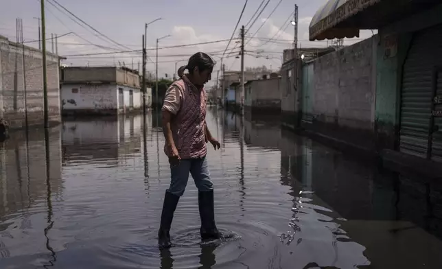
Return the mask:
[(377, 2), (380, 0), (328, 0), (313, 16), (309, 27), (310, 40), (358, 37), (358, 28), (336, 25)]

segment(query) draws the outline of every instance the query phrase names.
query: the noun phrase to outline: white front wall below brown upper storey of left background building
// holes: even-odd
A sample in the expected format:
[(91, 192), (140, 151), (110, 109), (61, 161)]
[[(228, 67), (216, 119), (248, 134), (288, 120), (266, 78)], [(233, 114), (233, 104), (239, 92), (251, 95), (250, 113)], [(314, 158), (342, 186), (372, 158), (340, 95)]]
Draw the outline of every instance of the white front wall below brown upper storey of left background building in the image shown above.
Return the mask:
[(69, 110), (117, 112), (118, 89), (113, 84), (64, 84), (61, 95), (63, 113), (67, 113)]

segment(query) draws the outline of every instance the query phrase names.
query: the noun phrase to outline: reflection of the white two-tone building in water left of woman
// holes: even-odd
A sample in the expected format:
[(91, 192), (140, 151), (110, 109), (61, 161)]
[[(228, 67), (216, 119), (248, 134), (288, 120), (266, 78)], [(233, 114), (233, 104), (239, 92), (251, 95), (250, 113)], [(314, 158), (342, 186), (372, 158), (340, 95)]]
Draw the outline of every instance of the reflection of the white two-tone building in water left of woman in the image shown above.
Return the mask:
[[(150, 121), (149, 117), (146, 121)], [(118, 117), (116, 120), (64, 121), (63, 160), (117, 160), (119, 156), (139, 152), (142, 128), (143, 115)]]

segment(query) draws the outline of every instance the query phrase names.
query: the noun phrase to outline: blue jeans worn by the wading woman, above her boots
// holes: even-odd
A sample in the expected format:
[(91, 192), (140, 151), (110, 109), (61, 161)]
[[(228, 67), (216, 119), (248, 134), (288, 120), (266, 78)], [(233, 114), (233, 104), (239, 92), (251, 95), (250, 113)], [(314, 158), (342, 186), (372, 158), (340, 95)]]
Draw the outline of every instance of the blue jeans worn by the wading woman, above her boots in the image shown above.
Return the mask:
[(189, 172), (194, 178), (198, 191), (211, 191), (213, 183), (210, 180), (206, 156), (198, 159), (185, 159), (179, 163), (170, 163), (170, 187), (168, 192), (176, 196), (183, 196), (189, 180)]

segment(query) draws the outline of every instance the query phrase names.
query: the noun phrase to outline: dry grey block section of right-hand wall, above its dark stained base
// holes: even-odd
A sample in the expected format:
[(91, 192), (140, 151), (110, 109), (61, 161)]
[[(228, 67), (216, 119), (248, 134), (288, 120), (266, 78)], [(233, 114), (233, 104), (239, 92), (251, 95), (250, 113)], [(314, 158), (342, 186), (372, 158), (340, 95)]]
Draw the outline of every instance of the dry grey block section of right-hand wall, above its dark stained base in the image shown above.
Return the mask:
[(314, 61), (312, 113), (339, 126), (373, 128), (375, 75), (369, 38)]

